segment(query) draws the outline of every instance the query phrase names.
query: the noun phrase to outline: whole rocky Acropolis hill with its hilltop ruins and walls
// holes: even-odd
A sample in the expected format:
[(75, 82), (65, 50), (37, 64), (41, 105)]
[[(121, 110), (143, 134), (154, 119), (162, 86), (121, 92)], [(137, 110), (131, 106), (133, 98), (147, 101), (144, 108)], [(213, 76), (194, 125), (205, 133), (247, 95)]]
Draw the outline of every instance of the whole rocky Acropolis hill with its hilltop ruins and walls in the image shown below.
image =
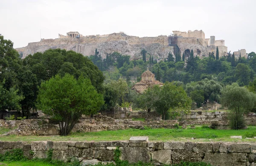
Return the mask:
[[(81, 53), (84, 56), (95, 54), (95, 49), (103, 58), (106, 54), (119, 52), (123, 55), (130, 55), (131, 59), (141, 57), (141, 50), (145, 49), (155, 59), (166, 58), (169, 52), (173, 54), (183, 52), (188, 57), (193, 49), (198, 57), (208, 57), (210, 52), (215, 52), (218, 46), (219, 56), (227, 55), (227, 46), (224, 40), (215, 40), (215, 36), (205, 38), (204, 31), (172, 31), (170, 36), (160, 35), (157, 37), (136, 37), (128, 36), (123, 32), (83, 36), (77, 31), (70, 31), (67, 35), (59, 34), (56, 39), (41, 39), (40, 42), (29, 43), (28, 46), (16, 50), (25, 58), (35, 52), (44, 52), (47, 49), (66, 49)], [(241, 49), (234, 52), (236, 57), (247, 57), (246, 50)]]

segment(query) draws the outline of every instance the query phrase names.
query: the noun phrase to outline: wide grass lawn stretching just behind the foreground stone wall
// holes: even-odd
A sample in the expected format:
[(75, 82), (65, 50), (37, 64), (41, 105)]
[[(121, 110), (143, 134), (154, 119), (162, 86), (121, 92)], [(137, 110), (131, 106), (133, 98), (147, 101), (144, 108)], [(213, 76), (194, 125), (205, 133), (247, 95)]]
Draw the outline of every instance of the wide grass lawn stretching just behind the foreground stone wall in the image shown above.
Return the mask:
[[(230, 139), (231, 135), (242, 135), (245, 137), (247, 132), (256, 131), (256, 126), (248, 126), (244, 130), (214, 130), (203, 129), (196, 126), (195, 129), (127, 129), (117, 131), (85, 132), (72, 133), (67, 137), (63, 136), (0, 136), (1, 141), (113, 141), (129, 140), (131, 136), (148, 136), (150, 141), (192, 141), (192, 142), (255, 142), (256, 139)], [(192, 140), (191, 138), (196, 138)]]

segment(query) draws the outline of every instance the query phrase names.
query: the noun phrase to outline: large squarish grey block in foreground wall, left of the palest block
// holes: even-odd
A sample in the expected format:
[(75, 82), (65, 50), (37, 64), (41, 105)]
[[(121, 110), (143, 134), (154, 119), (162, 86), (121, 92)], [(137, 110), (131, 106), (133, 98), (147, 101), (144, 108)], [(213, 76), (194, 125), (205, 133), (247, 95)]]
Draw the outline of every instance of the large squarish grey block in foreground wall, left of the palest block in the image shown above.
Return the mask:
[(121, 147), (119, 149), (121, 150), (120, 160), (128, 160), (129, 163), (150, 162), (149, 148)]

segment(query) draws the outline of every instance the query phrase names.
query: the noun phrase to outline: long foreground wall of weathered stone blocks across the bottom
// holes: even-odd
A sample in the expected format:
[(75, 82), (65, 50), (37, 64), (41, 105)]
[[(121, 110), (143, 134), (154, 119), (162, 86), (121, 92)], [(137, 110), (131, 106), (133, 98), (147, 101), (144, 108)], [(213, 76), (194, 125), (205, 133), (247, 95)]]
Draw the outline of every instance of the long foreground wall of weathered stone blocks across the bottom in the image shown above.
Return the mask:
[[(52, 159), (69, 161), (78, 158), (83, 166), (101, 162), (114, 163), (114, 150), (119, 147), (121, 160), (129, 163), (143, 161), (154, 165), (181, 161), (204, 161), (214, 166), (256, 166), (256, 143), (192, 143), (192, 142), (0, 142), (0, 154), (11, 149), (23, 149), (29, 158), (46, 158), (53, 149)], [(33, 152), (33, 153), (32, 153)]]

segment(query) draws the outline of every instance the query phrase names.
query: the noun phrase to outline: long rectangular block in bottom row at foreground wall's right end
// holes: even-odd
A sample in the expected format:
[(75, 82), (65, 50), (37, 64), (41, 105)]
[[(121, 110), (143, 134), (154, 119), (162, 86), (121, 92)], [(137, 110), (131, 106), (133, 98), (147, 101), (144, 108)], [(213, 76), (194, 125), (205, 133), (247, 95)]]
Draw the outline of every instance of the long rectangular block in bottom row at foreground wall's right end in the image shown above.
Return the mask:
[(204, 162), (214, 166), (246, 166), (245, 153), (205, 153)]

